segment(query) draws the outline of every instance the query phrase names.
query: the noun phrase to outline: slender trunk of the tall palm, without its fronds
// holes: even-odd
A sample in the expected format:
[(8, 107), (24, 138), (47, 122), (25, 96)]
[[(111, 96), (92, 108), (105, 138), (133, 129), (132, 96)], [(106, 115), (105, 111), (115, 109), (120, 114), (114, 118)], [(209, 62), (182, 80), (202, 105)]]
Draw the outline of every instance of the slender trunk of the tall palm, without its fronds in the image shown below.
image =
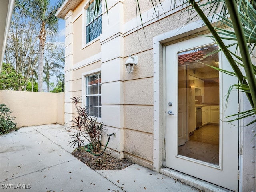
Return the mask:
[(44, 69), (44, 44), (46, 33), (44, 27), (41, 28), (39, 34), (39, 52), (38, 52), (38, 92), (43, 91), (43, 69)]

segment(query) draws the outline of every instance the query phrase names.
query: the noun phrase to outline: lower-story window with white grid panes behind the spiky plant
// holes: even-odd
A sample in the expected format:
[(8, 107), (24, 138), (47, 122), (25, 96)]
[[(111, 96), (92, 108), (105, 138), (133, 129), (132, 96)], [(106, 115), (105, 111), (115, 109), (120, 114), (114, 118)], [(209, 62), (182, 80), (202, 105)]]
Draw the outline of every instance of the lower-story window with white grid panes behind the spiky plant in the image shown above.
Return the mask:
[(86, 76), (86, 109), (90, 116), (101, 117), (101, 73)]

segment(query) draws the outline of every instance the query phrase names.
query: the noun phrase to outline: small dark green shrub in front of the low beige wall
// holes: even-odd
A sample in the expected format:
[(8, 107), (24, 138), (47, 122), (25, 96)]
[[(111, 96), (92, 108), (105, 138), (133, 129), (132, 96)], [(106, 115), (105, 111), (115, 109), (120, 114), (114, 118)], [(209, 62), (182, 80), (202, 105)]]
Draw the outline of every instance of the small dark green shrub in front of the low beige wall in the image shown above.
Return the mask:
[(11, 116), (12, 111), (5, 105), (0, 104), (0, 134), (16, 131), (16, 123), (12, 122), (15, 118)]

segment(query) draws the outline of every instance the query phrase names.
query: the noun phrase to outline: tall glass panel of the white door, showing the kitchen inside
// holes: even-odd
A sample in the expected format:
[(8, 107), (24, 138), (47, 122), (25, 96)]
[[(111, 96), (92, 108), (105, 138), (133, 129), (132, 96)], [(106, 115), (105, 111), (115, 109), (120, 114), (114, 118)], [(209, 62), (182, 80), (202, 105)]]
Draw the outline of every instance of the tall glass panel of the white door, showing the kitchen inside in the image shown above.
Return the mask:
[(178, 155), (219, 165), (219, 66), (211, 45), (178, 53)]

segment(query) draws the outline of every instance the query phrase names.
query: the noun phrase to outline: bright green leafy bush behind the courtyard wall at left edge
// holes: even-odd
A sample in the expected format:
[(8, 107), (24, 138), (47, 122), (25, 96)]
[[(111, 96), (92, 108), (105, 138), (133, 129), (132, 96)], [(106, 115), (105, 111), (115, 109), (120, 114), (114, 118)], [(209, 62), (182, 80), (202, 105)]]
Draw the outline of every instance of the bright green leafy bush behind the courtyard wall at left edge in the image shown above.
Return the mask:
[(22, 74), (17, 73), (11, 64), (3, 63), (0, 78), (0, 90), (19, 90), (25, 85)]

